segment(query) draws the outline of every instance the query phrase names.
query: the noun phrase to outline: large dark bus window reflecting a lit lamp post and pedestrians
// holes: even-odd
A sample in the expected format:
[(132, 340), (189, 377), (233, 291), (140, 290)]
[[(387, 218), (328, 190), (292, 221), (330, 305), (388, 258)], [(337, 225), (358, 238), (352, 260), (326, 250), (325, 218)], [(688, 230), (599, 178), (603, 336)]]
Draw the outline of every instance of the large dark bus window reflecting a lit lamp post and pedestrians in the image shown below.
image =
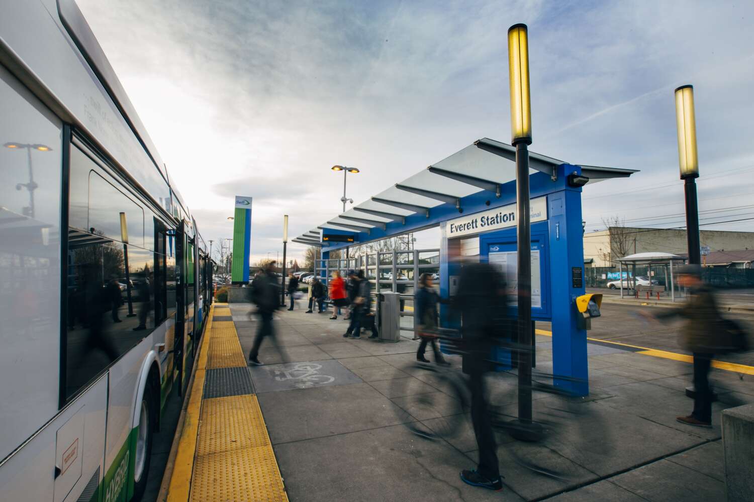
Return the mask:
[[(155, 327), (152, 253), (123, 242), (130, 240), (133, 232), (136, 242), (143, 243), (140, 206), (116, 190), (115, 183), (95, 173), (100, 168), (74, 145), (70, 169), (75, 179), (85, 179), (88, 174), (96, 177), (90, 189), (102, 192), (90, 193), (93, 210), (88, 212), (90, 217), (96, 214), (94, 220), (101, 230), (69, 227), (68, 231), (66, 397), (87, 385)], [(71, 188), (77, 189), (80, 187)], [(133, 225), (128, 222), (129, 214), (136, 220)], [(127, 229), (122, 233), (121, 220)], [(75, 224), (80, 227), (81, 221)]]

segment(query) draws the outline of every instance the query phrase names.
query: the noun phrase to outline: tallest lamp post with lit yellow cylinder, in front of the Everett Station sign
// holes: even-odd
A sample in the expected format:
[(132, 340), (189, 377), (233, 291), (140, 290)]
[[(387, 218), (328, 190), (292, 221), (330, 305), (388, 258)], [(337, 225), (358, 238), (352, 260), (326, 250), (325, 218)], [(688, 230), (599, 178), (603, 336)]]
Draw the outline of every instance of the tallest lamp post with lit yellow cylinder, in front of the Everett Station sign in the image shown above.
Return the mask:
[[(529, 35), (525, 24), (508, 29), (510, 76), (510, 135), (516, 147), (516, 239), (518, 255), (518, 421), (511, 435), (520, 440), (538, 437), (532, 423), (532, 229), (529, 221), (529, 145), (532, 107), (529, 96)], [(517, 433), (517, 434), (516, 434)]]

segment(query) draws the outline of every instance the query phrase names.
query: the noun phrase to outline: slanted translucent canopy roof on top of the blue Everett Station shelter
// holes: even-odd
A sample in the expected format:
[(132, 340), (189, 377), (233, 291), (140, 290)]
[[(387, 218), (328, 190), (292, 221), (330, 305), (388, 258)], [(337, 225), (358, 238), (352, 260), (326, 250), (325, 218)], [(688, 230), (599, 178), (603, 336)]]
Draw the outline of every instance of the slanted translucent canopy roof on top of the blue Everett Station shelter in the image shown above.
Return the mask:
[[(500, 193), (501, 185), (516, 179), (516, 147), (489, 138), (474, 141), (461, 151), (422, 169), (355, 205), (342, 214), (302, 234), (293, 242), (320, 245), (320, 231), (325, 228), (363, 232), (385, 227), (391, 221), (403, 221), (411, 214), (426, 214), (446, 202), (458, 205), (458, 199), (490, 190)], [(555, 175), (562, 160), (529, 151), (529, 175), (544, 172)], [(608, 178), (627, 178), (636, 170), (581, 165), (581, 174), (589, 184)]]

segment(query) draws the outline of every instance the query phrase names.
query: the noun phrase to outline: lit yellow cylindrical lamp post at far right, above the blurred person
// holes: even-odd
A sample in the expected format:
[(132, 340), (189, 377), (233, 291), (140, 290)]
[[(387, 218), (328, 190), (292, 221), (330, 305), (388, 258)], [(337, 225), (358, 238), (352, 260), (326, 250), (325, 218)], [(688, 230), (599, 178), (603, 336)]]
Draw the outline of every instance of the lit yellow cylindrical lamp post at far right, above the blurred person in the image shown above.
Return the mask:
[(697, 126), (694, 118), (694, 87), (684, 85), (676, 89), (676, 125), (678, 126), (678, 162), (681, 179), (685, 181), (686, 242), (688, 263), (699, 265), (699, 207), (697, 183), (699, 159), (697, 158)]

